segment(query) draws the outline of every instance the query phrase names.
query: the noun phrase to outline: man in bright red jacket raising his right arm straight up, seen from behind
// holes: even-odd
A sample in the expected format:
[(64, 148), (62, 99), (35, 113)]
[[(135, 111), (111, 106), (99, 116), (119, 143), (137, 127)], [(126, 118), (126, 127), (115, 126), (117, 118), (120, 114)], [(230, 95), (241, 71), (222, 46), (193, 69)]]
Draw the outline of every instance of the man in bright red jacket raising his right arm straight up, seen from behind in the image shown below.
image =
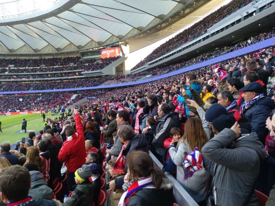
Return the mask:
[(80, 116), (78, 114), (78, 109), (74, 109), (75, 113), (75, 128), (67, 127), (65, 130), (66, 141), (62, 144), (62, 148), (58, 154), (58, 160), (60, 162), (65, 162), (68, 169), (68, 178), (70, 191), (72, 187), (76, 185), (75, 183), (75, 171), (85, 164), (86, 149), (85, 149), (85, 136), (83, 130), (83, 124), (81, 123)]

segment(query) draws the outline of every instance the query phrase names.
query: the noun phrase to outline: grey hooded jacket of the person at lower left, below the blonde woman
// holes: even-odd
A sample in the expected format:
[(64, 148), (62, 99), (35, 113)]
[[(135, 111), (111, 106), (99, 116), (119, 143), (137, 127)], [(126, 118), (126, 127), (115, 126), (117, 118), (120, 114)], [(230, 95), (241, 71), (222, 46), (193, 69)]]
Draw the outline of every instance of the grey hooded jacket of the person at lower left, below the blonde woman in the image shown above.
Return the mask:
[(34, 200), (39, 198), (52, 200), (53, 192), (47, 183), (44, 181), (43, 175), (38, 171), (30, 171), (31, 175), (31, 188), (29, 189), (29, 196)]

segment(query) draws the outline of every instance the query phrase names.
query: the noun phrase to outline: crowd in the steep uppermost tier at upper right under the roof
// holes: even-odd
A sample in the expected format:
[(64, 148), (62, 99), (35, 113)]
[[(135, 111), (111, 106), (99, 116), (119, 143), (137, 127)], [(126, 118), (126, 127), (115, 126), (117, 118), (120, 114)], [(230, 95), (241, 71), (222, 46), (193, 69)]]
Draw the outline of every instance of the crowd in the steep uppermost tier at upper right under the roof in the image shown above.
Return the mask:
[(173, 38), (166, 41), (164, 44), (160, 45), (152, 53), (150, 53), (147, 57), (141, 60), (136, 66), (134, 66), (131, 70), (139, 68), (174, 49), (185, 44), (188, 41), (192, 41), (193, 39), (197, 38), (205, 34), (208, 28), (216, 24), (218, 21), (224, 19), (226, 16), (229, 16), (236, 10), (242, 8), (249, 4), (252, 0), (234, 0), (230, 3), (222, 6), (220, 9), (214, 11), (213, 13), (209, 14), (193, 26), (188, 29), (185, 29), (180, 34), (177, 34)]

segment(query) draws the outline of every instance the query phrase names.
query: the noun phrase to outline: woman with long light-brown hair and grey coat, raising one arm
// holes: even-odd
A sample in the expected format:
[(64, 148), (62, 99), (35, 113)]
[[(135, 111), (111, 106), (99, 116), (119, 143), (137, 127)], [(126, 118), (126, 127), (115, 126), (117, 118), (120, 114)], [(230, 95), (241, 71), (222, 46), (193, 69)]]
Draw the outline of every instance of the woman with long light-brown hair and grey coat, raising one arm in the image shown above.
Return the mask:
[(200, 119), (197, 117), (187, 119), (183, 136), (180, 138), (177, 147), (169, 149), (169, 154), (172, 161), (177, 165), (177, 181), (199, 205), (205, 205), (205, 199), (209, 191), (210, 174), (202, 168), (194, 172), (192, 177), (188, 177), (188, 175), (185, 177), (182, 163), (185, 156), (192, 153), (195, 147), (198, 147), (201, 151), (203, 145), (210, 139), (211, 129), (205, 120), (205, 111), (194, 100), (188, 101), (190, 102), (189, 107), (197, 109)]

